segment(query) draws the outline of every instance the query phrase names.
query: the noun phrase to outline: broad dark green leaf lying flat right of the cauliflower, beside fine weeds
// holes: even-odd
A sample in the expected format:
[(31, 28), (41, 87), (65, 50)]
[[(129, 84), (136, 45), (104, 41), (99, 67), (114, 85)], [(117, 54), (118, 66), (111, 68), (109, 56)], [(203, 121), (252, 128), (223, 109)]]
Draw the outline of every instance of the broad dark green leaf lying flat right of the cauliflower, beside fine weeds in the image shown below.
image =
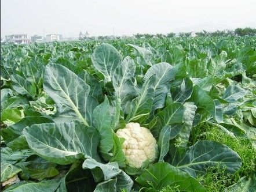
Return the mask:
[(207, 167), (220, 165), (234, 173), (241, 166), (240, 156), (226, 145), (215, 141), (198, 141), (191, 146), (176, 167), (192, 176), (203, 174)]

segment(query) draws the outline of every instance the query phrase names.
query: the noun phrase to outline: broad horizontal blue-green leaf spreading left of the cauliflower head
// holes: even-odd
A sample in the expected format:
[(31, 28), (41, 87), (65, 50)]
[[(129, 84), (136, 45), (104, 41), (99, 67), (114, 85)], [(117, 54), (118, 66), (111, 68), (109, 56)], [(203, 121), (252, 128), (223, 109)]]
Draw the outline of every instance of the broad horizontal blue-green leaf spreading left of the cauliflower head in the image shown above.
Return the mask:
[(39, 156), (57, 164), (70, 164), (83, 156), (99, 159), (98, 131), (81, 123), (45, 123), (23, 130), (28, 145)]

